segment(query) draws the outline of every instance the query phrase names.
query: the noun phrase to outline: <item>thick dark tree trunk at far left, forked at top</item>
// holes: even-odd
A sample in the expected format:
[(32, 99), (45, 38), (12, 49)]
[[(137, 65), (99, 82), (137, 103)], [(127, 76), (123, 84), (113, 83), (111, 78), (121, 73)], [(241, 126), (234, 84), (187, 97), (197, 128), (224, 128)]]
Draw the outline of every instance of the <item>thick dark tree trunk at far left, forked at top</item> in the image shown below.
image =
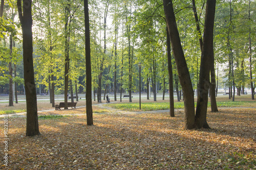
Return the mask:
[(23, 36), (23, 62), (24, 81), (27, 103), (27, 129), (26, 136), (39, 135), (36, 87), (33, 67), (33, 42), (32, 42), (32, 13), (30, 1), (17, 0), (19, 20), (22, 25)]

